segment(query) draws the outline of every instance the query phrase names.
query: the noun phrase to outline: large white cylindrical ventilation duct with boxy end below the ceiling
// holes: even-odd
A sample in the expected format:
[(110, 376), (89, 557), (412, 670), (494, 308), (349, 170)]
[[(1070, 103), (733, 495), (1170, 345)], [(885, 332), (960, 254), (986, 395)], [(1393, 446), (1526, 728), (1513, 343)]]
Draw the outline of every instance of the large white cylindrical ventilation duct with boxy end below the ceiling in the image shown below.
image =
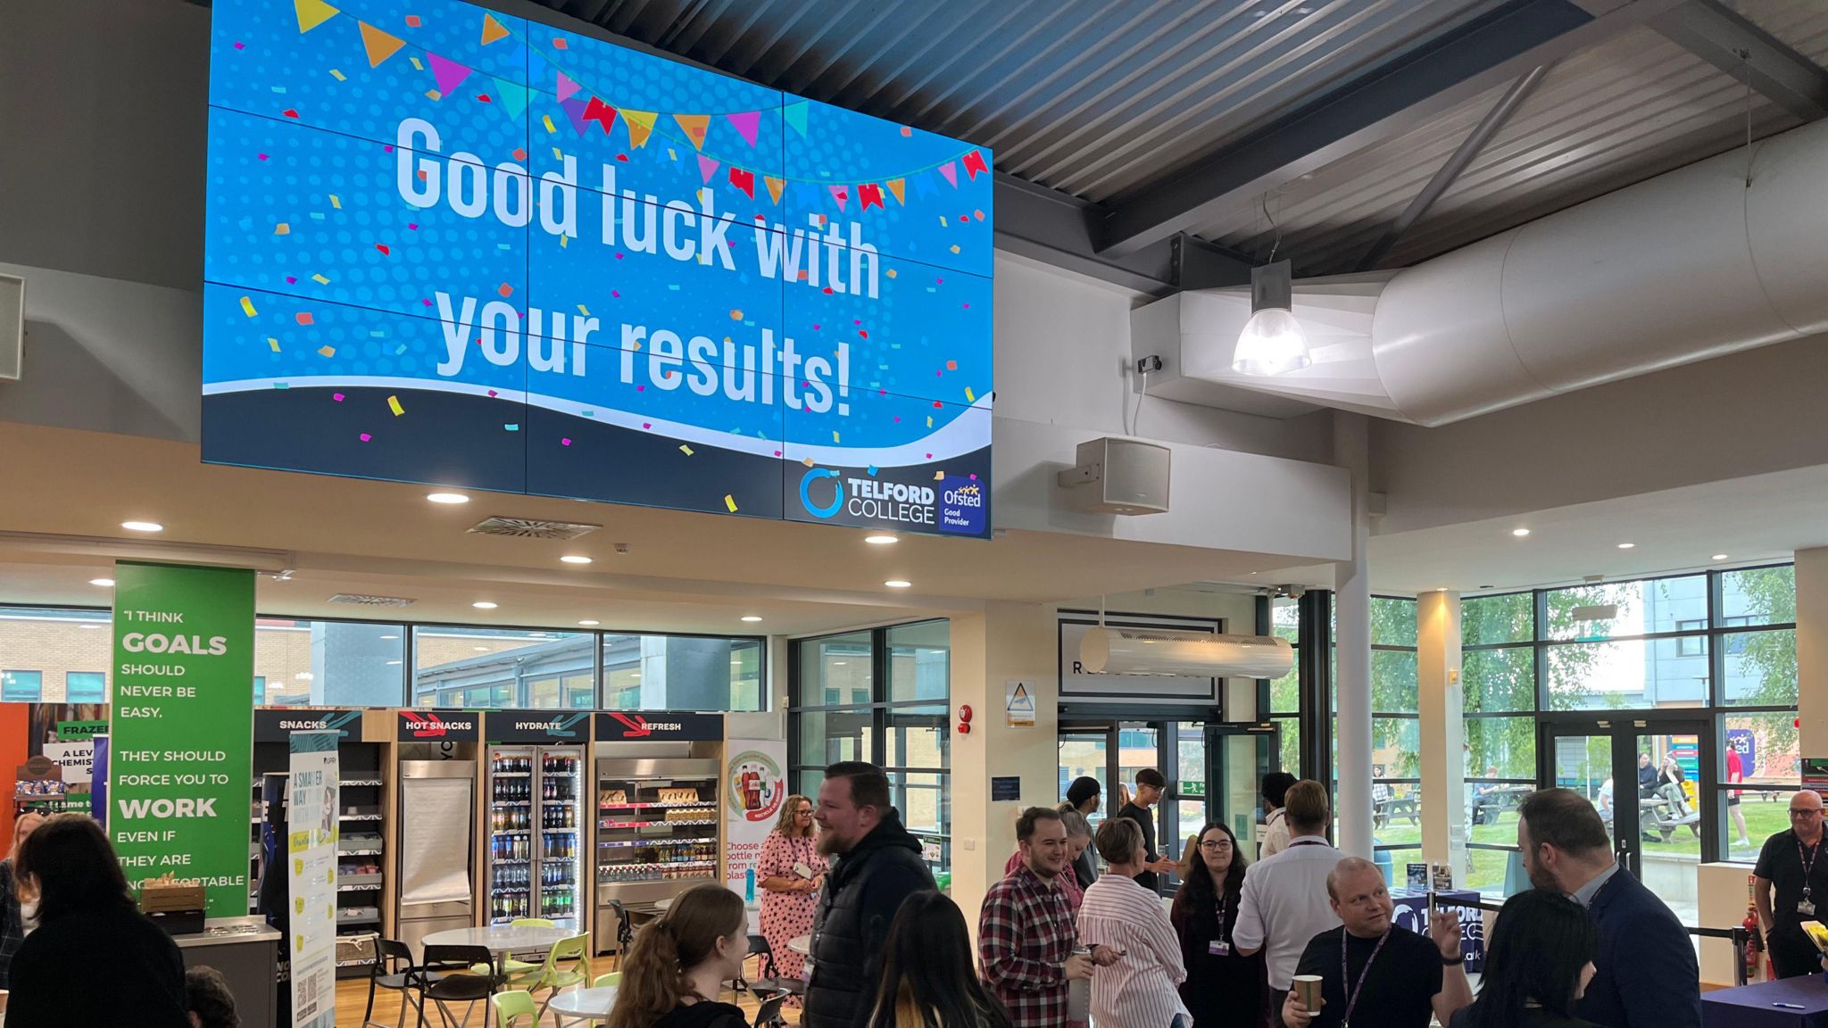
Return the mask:
[(1230, 369), (1241, 287), (1141, 307), (1132, 351), (1163, 357), (1150, 391), (1170, 399), (1219, 382), (1448, 424), (1828, 331), (1824, 192), (1828, 119), (1395, 274), (1296, 282), (1309, 368)]

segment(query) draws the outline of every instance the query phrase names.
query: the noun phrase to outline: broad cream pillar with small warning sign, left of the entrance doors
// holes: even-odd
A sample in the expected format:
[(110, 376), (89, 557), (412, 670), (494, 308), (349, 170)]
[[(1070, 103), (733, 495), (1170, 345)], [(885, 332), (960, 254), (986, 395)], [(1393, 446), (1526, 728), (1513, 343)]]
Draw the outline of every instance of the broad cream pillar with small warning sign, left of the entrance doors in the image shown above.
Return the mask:
[[(972, 938), (983, 893), (1004, 876), (1024, 807), (1060, 803), (1060, 680), (1055, 616), (1031, 604), (985, 604), (952, 618), (952, 900)], [(1005, 688), (1020, 679), (1035, 695), (1035, 724), (1011, 728)], [(958, 708), (971, 734), (956, 732)], [(991, 801), (991, 777), (1022, 779), (1020, 801)]]

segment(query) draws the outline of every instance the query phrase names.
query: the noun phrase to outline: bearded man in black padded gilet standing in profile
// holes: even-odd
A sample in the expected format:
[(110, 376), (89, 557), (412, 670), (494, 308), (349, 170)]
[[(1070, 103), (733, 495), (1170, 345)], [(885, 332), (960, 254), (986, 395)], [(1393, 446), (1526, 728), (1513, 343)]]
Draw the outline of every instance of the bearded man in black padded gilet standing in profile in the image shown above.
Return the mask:
[[(865, 761), (824, 768), (819, 852), (837, 856), (813, 922), (802, 1028), (863, 1028), (876, 1001), (881, 953), (901, 902), (932, 889), (919, 840), (888, 805), (888, 777)], [(611, 1026), (618, 1028), (618, 1026)]]

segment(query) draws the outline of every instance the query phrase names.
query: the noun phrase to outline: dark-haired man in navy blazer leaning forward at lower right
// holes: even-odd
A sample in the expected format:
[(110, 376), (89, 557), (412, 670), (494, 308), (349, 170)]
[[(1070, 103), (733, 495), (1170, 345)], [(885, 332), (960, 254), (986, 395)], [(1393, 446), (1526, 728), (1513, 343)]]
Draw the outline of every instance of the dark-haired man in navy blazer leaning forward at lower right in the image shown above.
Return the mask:
[(1517, 814), (1530, 882), (1572, 896), (1600, 931), (1596, 973), (1576, 1017), (1609, 1028), (1700, 1028), (1695, 946), (1656, 893), (1612, 860), (1592, 803), (1567, 788), (1545, 788), (1525, 798)]

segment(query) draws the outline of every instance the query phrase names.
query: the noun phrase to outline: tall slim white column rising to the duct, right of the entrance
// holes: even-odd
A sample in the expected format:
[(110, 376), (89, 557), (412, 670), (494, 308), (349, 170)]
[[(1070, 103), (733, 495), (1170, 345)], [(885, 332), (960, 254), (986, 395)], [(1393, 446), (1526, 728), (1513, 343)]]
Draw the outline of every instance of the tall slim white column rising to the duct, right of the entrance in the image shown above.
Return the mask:
[[(1338, 847), (1371, 858), (1371, 538), (1369, 426), (1362, 413), (1334, 412), (1333, 463), (1353, 472), (1353, 558), (1334, 565), (1333, 611), (1338, 622), (1334, 659), (1338, 688), (1338, 766), (1333, 796), (1340, 818)], [(1318, 626), (1325, 631), (1325, 626)]]

